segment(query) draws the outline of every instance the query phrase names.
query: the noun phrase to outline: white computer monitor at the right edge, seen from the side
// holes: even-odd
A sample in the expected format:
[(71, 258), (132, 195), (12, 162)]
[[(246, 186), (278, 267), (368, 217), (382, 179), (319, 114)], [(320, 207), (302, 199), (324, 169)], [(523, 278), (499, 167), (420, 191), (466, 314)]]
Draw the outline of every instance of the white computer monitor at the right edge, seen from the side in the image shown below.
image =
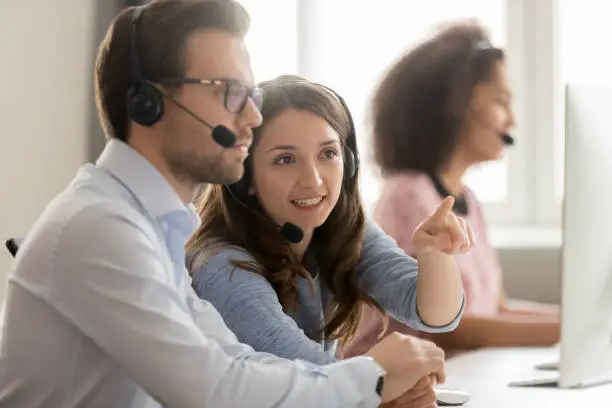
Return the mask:
[(612, 87), (565, 88), (561, 388), (612, 381)]

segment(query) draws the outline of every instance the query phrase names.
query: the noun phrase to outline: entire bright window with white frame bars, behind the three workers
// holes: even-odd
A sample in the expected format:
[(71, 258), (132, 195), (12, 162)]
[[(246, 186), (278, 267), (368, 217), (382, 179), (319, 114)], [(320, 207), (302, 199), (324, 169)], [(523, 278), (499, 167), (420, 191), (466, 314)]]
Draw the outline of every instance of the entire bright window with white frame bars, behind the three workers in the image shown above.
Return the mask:
[[(612, 4), (597, 0), (240, 0), (257, 80), (298, 73), (344, 96), (357, 126), (361, 187), (371, 211), (380, 177), (368, 109), (381, 75), (440, 23), (477, 18), (508, 55), (517, 143), (466, 182), (493, 227), (558, 227), (563, 177), (562, 82), (609, 81), (602, 30)], [(589, 47), (585, 46), (588, 44)], [(604, 50), (604, 51), (600, 51)], [(608, 57), (609, 56), (609, 57)], [(562, 69), (560, 70), (561, 67)]]

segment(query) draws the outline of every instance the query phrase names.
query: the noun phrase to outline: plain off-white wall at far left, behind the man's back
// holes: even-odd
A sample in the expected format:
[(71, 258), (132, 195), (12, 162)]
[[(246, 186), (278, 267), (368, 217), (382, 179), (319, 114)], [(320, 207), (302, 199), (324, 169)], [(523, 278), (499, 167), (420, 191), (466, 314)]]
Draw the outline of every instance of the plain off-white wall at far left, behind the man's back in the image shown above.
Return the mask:
[[(0, 1), (2, 241), (24, 234), (88, 159), (98, 2)], [(10, 262), (3, 247), (0, 295)]]

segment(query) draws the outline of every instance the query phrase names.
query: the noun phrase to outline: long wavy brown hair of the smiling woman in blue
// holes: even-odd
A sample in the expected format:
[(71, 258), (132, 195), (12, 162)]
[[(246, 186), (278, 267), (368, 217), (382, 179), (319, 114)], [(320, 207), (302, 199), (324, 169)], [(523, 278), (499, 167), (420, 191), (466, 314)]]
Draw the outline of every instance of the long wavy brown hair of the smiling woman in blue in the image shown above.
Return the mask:
[[(266, 124), (287, 109), (304, 110), (323, 118), (346, 145), (349, 117), (329, 90), (293, 75), (280, 76), (259, 86), (265, 91), (261, 108), (263, 124), (253, 131), (252, 149), (257, 148), (265, 135)], [(250, 161), (246, 163), (245, 177), (249, 183), (252, 165)], [(327, 220), (315, 229), (309, 248), (315, 254), (320, 279), (333, 295), (320, 328), (327, 339), (347, 340), (355, 333), (362, 301), (379, 308), (358, 287), (353, 274), (365, 228), (357, 184), (353, 189), (342, 189)], [(305, 278), (312, 284), (310, 273), (256, 196), (240, 197), (240, 200), (226, 186), (210, 185), (204, 189), (196, 203), (202, 224), (187, 243), (190, 270), (206, 262), (219, 247), (237, 245), (257, 262), (234, 262), (234, 265), (264, 276), (276, 291), (283, 310), (295, 311), (299, 304), (296, 278)]]

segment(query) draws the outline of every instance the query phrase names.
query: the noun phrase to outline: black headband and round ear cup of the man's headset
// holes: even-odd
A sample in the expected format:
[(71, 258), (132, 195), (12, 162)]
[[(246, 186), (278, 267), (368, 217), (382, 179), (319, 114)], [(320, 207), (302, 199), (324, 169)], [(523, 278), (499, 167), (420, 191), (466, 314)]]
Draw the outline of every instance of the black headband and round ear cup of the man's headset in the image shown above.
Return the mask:
[(127, 114), (142, 126), (153, 126), (164, 114), (164, 98), (161, 92), (144, 78), (138, 49), (138, 24), (146, 6), (137, 7), (132, 14), (130, 38), (130, 86), (126, 95)]

